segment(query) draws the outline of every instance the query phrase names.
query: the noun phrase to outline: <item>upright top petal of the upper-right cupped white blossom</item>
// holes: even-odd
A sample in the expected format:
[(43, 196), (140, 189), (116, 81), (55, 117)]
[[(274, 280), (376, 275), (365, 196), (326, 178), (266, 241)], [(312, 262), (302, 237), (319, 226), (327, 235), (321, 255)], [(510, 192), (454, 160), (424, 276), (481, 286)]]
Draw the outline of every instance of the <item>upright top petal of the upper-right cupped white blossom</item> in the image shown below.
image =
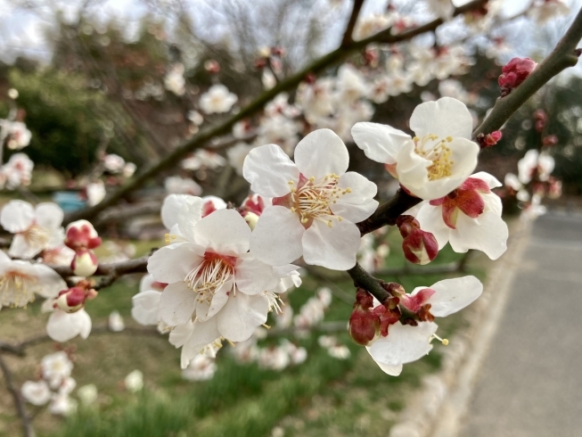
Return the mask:
[(464, 103), (443, 97), (416, 106), (410, 117), (410, 128), (420, 137), (434, 134), (441, 138), (471, 139), (473, 118)]

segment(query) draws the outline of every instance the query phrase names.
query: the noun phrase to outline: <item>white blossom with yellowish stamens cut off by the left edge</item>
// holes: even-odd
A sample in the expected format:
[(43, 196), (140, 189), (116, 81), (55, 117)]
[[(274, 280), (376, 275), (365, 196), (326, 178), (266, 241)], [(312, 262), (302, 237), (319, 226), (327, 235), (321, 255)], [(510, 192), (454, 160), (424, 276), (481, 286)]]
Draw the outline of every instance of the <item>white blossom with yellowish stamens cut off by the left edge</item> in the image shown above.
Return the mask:
[(52, 268), (11, 260), (0, 251), (0, 309), (24, 307), (35, 300), (35, 293), (51, 298), (66, 289), (67, 284)]

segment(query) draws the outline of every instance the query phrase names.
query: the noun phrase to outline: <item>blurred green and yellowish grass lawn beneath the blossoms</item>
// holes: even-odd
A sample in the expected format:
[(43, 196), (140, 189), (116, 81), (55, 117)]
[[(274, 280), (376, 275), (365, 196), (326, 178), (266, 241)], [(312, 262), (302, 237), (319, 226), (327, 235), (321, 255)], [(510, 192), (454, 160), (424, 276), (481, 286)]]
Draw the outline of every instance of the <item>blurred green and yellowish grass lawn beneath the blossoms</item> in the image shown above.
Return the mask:
[[(393, 249), (387, 260), (389, 268), (404, 265), (398, 248), (398, 232), (390, 233)], [(140, 243), (137, 255), (147, 252), (157, 243)], [(446, 248), (436, 263), (459, 259), (460, 255)], [(480, 258), (471, 262), (471, 274), (483, 279)], [(455, 276), (455, 275), (452, 275)], [(456, 275), (458, 276), (458, 274)], [(418, 285), (430, 285), (451, 275), (406, 275), (385, 277), (397, 281), (412, 291)], [(136, 293), (138, 278), (127, 278), (89, 302), (87, 312), (94, 326), (102, 326), (112, 309), (119, 310), (127, 326), (136, 326), (129, 316), (131, 296)], [(331, 286), (335, 293), (354, 294), (347, 274), (330, 274), (329, 281), (317, 282), (313, 276), (289, 295), (293, 309), (299, 309), (314, 295), (318, 286)], [(16, 341), (44, 331), (47, 316), (37, 316), (40, 302), (28, 309), (9, 309), (0, 313), (2, 340)], [(351, 305), (337, 297), (325, 315), (326, 321), (348, 320)], [(463, 325), (463, 317), (455, 315), (441, 319), (439, 335), (446, 337)], [(268, 322), (267, 322), (268, 323)], [(308, 351), (307, 361), (283, 372), (258, 368), (256, 364), (241, 365), (228, 353), (226, 345), (217, 357), (218, 370), (208, 382), (184, 381), (179, 368), (179, 350), (168, 343), (166, 336), (132, 336), (129, 334), (92, 334), (85, 341), (73, 340), (65, 346), (77, 348), (72, 376), (78, 387), (96, 384), (97, 405), (80, 409), (67, 419), (52, 416), (45, 410), (36, 414), (35, 427), (41, 436), (59, 437), (185, 437), (185, 436), (385, 436), (390, 425), (404, 408), (406, 392), (418, 386), (423, 375), (439, 369), (439, 350), (435, 344), (426, 358), (406, 365), (398, 378), (385, 375), (364, 348), (337, 334), (348, 345), (351, 357), (334, 359), (317, 344), (317, 334), (291, 339)], [(266, 342), (277, 342), (267, 339)], [(15, 371), (20, 385), (35, 379), (39, 360), (54, 350), (52, 343), (29, 349), (24, 359), (4, 355)], [(123, 378), (132, 370), (143, 372), (143, 392), (131, 394), (122, 386)], [(74, 394), (74, 393), (73, 393)], [(0, 435), (18, 435), (18, 417), (11, 398), (3, 392), (0, 398)], [(282, 434), (283, 432), (283, 434)]]

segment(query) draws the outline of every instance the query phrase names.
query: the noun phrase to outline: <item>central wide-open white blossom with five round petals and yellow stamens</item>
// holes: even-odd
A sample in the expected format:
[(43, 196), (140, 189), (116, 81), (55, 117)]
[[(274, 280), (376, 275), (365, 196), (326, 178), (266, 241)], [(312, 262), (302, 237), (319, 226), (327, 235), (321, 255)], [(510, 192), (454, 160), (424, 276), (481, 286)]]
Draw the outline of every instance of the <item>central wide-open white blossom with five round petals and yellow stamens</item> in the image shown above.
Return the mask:
[(259, 260), (283, 265), (303, 256), (307, 264), (354, 267), (360, 243), (357, 222), (376, 209), (377, 188), (348, 169), (348, 150), (329, 129), (303, 138), (295, 162), (275, 144), (249, 153), (243, 175), (250, 189), (273, 197), (253, 230), (251, 251)]

